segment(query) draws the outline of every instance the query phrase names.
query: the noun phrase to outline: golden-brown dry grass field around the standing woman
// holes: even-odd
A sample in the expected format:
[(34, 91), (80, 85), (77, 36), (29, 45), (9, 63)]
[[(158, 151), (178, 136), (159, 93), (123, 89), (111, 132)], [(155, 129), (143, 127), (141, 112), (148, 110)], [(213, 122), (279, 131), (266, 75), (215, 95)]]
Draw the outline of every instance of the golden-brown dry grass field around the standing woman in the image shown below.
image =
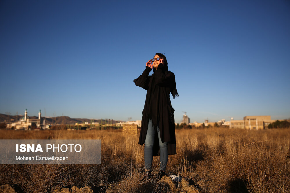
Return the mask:
[[(182, 176), (199, 192), (290, 192), (290, 130), (228, 128), (176, 130), (177, 155), (166, 174)], [(0, 130), (0, 139), (101, 139), (99, 165), (0, 165), (0, 185), (24, 192), (90, 185), (95, 192), (170, 192), (144, 179), (144, 146), (122, 130)], [(159, 157), (153, 159), (158, 171)], [(179, 185), (177, 184), (177, 192)]]

